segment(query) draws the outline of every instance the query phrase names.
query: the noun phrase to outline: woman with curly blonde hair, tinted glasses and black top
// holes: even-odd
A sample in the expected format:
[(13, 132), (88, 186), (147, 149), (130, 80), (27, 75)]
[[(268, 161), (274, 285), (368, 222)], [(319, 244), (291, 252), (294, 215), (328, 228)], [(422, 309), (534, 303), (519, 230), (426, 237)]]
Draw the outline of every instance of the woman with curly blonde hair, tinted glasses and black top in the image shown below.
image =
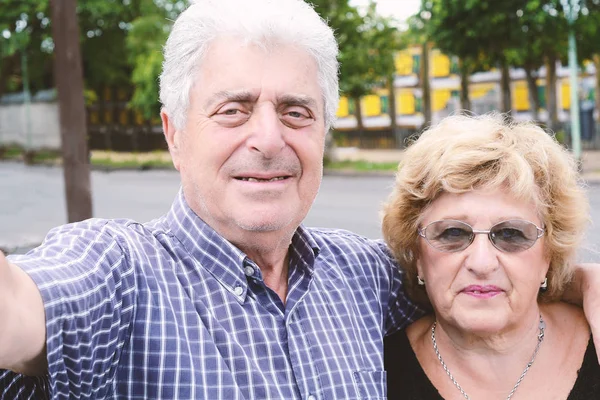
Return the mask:
[(384, 210), (433, 313), (386, 339), (390, 399), (600, 399), (580, 308), (560, 303), (588, 220), (576, 163), (502, 116), (452, 116), (406, 151)]

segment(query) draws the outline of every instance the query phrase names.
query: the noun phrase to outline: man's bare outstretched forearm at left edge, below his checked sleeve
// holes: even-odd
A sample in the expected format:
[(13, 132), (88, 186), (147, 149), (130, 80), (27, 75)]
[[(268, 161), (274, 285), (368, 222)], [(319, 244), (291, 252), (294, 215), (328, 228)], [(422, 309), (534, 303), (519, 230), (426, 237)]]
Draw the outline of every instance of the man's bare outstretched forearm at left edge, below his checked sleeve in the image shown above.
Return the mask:
[(0, 251), (0, 369), (42, 375), (46, 361), (46, 320), (33, 280)]

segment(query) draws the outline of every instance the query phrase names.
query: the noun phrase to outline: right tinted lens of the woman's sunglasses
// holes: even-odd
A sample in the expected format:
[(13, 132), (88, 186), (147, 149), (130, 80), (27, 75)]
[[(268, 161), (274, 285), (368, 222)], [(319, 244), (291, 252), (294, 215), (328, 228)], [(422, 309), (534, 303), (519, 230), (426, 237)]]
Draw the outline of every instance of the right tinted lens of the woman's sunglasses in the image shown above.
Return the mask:
[(538, 228), (532, 222), (513, 220), (494, 225), (490, 238), (498, 249), (507, 253), (527, 250), (538, 239)]

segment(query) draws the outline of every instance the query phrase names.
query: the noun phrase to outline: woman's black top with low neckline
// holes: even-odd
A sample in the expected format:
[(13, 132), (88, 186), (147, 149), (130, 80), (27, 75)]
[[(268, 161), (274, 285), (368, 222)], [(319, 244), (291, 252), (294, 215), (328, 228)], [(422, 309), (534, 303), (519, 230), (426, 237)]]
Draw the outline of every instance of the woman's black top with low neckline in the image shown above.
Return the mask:
[[(389, 400), (443, 400), (421, 368), (405, 331), (385, 338), (383, 358)], [(600, 399), (600, 365), (591, 337), (567, 400), (590, 399)]]

